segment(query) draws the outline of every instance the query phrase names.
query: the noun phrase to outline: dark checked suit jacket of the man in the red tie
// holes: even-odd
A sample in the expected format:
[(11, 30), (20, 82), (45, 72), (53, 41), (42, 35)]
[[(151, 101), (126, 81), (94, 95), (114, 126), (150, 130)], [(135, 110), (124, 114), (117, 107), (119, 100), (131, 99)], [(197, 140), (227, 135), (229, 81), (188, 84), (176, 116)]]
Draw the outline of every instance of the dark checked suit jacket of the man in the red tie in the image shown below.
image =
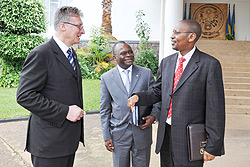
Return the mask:
[(204, 123), (208, 133), (205, 150), (221, 155), (225, 131), (225, 97), (221, 65), (217, 59), (195, 50), (172, 93), (178, 54), (164, 58), (152, 90), (138, 93), (137, 105), (162, 101), (156, 153), (162, 147), (166, 118), (172, 97), (171, 137), (174, 160), (180, 165), (195, 166), (203, 161), (188, 160), (187, 125)]

